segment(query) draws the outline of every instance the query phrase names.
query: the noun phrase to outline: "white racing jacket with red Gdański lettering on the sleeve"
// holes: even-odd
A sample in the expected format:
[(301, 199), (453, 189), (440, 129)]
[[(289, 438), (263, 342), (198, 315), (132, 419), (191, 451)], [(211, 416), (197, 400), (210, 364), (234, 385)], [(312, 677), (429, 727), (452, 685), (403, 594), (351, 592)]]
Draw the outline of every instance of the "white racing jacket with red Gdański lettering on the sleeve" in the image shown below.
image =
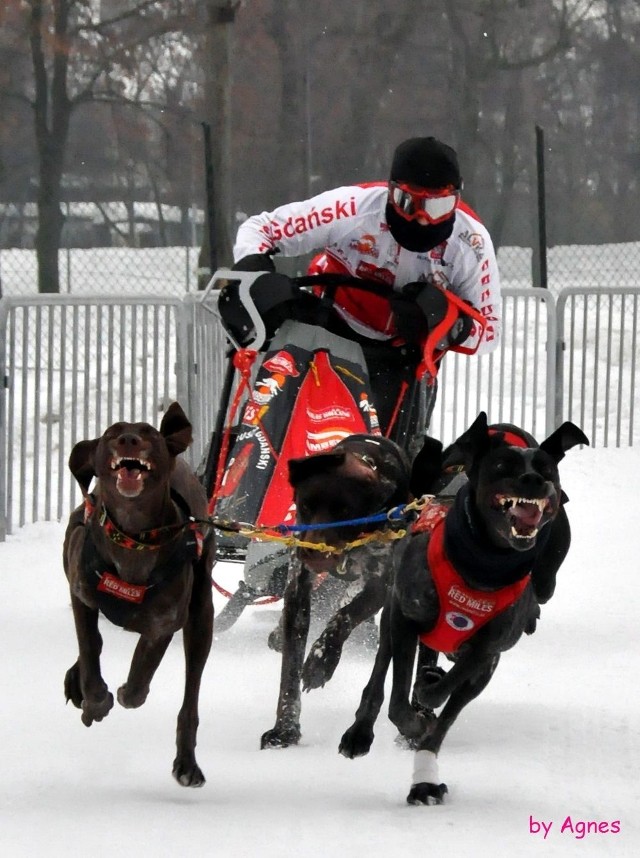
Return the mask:
[[(341, 272), (374, 280), (400, 291), (411, 282), (434, 283), (469, 301), (486, 320), (479, 354), (498, 345), (501, 324), (500, 278), (491, 237), (475, 212), (459, 202), (451, 236), (425, 253), (405, 250), (385, 219), (387, 183), (350, 185), (311, 199), (280, 206), (248, 218), (233, 249), (237, 262), (254, 253), (278, 251), (301, 256), (324, 250), (312, 264), (315, 273)], [(386, 301), (375, 295), (336, 298), (351, 327), (373, 339), (392, 339), (393, 319)], [(465, 343), (473, 345), (476, 334)]]

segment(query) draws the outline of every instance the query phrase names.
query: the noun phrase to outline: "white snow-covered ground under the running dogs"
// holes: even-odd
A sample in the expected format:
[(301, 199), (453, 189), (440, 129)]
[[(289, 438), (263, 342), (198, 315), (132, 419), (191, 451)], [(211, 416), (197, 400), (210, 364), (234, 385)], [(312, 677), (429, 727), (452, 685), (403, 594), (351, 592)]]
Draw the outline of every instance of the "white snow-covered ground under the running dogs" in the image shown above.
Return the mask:
[[(171, 777), (179, 637), (144, 707), (116, 705), (85, 728), (63, 696), (76, 658), (64, 526), (10, 536), (0, 543), (2, 854), (640, 854), (640, 541), (632, 515), (640, 447), (575, 449), (561, 473), (574, 541), (556, 595), (535, 635), (503, 657), (445, 741), (441, 807), (405, 804), (412, 758), (394, 744), (386, 710), (367, 757), (337, 753), (372, 661), (353, 645), (327, 687), (305, 695), (300, 746), (259, 750), (275, 715), (279, 656), (266, 637), (277, 605), (246, 612), (216, 636), (201, 696), (203, 789)], [(240, 577), (231, 564), (214, 574), (231, 589)], [(220, 609), (223, 597), (215, 600)], [(136, 638), (106, 622), (102, 631), (104, 675), (115, 690)], [(551, 824), (546, 838), (543, 822)]]

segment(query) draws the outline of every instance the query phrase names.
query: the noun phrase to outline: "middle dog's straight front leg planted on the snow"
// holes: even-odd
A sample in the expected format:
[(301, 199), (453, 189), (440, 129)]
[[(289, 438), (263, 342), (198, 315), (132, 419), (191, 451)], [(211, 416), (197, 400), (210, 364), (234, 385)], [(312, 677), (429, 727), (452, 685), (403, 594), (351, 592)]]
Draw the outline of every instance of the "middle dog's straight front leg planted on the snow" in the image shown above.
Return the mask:
[(286, 748), (300, 741), (300, 678), (309, 634), (311, 579), (311, 573), (303, 566), (285, 590), (276, 723), (262, 735), (261, 748)]

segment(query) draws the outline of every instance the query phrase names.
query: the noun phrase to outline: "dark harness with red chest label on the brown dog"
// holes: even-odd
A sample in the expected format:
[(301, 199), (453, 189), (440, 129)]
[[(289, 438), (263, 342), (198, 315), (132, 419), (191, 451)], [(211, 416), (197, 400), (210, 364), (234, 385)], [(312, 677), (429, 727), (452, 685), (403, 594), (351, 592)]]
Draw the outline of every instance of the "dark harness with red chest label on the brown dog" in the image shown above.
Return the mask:
[[(138, 534), (137, 538), (122, 533), (109, 518), (104, 507), (99, 513), (98, 524), (105, 531), (107, 538), (123, 548), (133, 551), (158, 550), (175, 542), (170, 556), (161, 566), (153, 569), (146, 584), (130, 584), (121, 578), (115, 565), (101, 555), (91, 529), (87, 529), (81, 559), (85, 583), (88, 584), (99, 610), (114, 625), (126, 627), (145, 598), (150, 595), (150, 591), (154, 595), (157, 594), (182, 571), (185, 562), (195, 563), (202, 555), (204, 535), (201, 529), (190, 520), (190, 510), (184, 498), (173, 491), (171, 496), (185, 516), (184, 520), (177, 525), (144, 531)], [(96, 511), (95, 498), (87, 495), (85, 525)]]

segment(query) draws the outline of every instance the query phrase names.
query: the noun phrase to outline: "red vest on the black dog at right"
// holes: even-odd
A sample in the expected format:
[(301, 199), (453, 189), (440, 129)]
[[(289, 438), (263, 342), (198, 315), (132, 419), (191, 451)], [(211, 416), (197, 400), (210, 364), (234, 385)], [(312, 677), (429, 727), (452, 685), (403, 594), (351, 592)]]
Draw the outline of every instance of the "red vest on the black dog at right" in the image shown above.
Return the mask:
[(427, 547), (427, 564), (440, 601), (435, 626), (420, 640), (437, 652), (452, 653), (489, 620), (513, 605), (529, 584), (531, 574), (499, 590), (474, 590), (465, 584), (444, 551), (444, 519), (434, 524)]

